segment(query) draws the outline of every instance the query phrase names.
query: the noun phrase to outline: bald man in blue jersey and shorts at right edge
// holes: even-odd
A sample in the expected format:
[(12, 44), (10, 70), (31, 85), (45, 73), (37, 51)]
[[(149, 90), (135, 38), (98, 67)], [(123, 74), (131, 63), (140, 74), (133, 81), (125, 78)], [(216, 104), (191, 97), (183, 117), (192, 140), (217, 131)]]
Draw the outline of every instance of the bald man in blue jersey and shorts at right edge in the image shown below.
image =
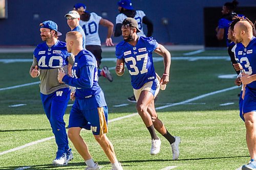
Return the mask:
[(241, 78), (245, 86), (243, 116), (246, 127), (246, 142), (251, 160), (243, 165), (243, 170), (256, 169), (256, 38), (253, 36), (254, 26), (247, 18), (241, 17), (234, 26), (236, 38), (236, 57), (243, 66)]

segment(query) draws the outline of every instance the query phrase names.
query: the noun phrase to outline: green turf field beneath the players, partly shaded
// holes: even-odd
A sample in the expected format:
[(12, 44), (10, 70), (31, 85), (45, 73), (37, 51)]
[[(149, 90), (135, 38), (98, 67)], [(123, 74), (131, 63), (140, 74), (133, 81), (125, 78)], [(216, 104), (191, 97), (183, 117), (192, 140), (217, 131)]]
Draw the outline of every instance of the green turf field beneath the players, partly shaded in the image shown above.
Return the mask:
[[(161, 152), (156, 156), (150, 155), (150, 134), (139, 115), (135, 115), (109, 123), (108, 137), (114, 144), (117, 158), (125, 170), (160, 170), (170, 169), (172, 166), (177, 170), (234, 170), (249, 161), (245, 127), (238, 110), (240, 88), (228, 90), (234, 87), (234, 79), (218, 78), (220, 75), (236, 72), (228, 58), (204, 57), (228, 56), (227, 52), (211, 50), (183, 58), (183, 54), (188, 52), (172, 53), (174, 59), (170, 70), (170, 83), (165, 91), (160, 91), (156, 102), (159, 118), (168, 131), (181, 137), (179, 160), (172, 160), (170, 145), (160, 134)], [(115, 54), (108, 52), (102, 56), (104, 59), (114, 58)], [(195, 56), (199, 56), (199, 59), (195, 59)], [(32, 54), (0, 54), (0, 59), (29, 58), (32, 59)], [(115, 61), (103, 61), (103, 65), (111, 68), (115, 66)], [(157, 60), (154, 65), (161, 75), (163, 61)], [(73, 149), (74, 160), (64, 167), (51, 165), (57, 148), (54, 138), (4, 153), (53, 136), (42, 109), (39, 84), (4, 89), (39, 81), (30, 77), (30, 66), (31, 62), (4, 63), (0, 60), (0, 169), (84, 169), (86, 165), (72, 143), (70, 146)], [(133, 92), (130, 75), (125, 72), (122, 77), (118, 77), (113, 69), (111, 73), (114, 77), (112, 83), (99, 78), (109, 107), (109, 120), (136, 112), (135, 104), (126, 100)], [(17, 104), (26, 105), (9, 107)], [(122, 104), (128, 105), (115, 107)], [(68, 107), (66, 111), (66, 123), (70, 109), (71, 107)], [(101, 169), (111, 169), (108, 158), (96, 143), (92, 133), (82, 131), (81, 135)]]

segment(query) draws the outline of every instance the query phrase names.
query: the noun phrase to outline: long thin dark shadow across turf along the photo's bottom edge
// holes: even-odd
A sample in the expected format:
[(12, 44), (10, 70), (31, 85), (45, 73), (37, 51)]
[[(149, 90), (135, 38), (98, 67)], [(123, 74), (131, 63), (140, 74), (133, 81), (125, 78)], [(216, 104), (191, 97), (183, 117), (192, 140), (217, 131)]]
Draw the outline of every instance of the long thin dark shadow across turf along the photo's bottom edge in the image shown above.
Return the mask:
[[(203, 160), (203, 159), (225, 159), (225, 158), (243, 158), (243, 157), (250, 157), (250, 156), (229, 156), (229, 157), (214, 157), (214, 158), (193, 158), (193, 159), (179, 159), (175, 161), (186, 161), (186, 160)], [(152, 160), (128, 160), (128, 161), (120, 161), (121, 163), (133, 163), (133, 162), (166, 162), (166, 161), (174, 161), (172, 159), (152, 159)], [(99, 161), (97, 162), (99, 165), (110, 165), (109, 161)], [(31, 166), (31, 168), (28, 169), (38, 169), (38, 170), (49, 170), (54, 169), (58, 167), (62, 167), (61, 169), (77, 169), (77, 167), (74, 166), (83, 166), (86, 167), (86, 163), (84, 162), (77, 162), (72, 163), (70, 162), (67, 166), (53, 166), (52, 164), (42, 164), (42, 165), (20, 165), (20, 166), (6, 166), (1, 167), (6, 170), (16, 169), (22, 166)], [(73, 166), (73, 167), (72, 167)], [(123, 165), (124, 167), (130, 166), (130, 165)]]

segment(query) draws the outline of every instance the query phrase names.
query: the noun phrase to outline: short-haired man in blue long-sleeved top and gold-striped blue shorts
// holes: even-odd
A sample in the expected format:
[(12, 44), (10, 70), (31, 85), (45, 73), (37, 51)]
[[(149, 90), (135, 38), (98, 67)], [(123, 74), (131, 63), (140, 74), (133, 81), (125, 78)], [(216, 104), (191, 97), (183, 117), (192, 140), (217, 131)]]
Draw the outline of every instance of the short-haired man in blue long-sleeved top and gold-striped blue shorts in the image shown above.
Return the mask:
[(82, 47), (82, 35), (77, 31), (66, 34), (68, 52), (75, 55), (72, 67), (72, 77), (60, 71), (58, 81), (76, 87), (75, 99), (69, 117), (68, 136), (78, 153), (86, 161), (86, 169), (99, 169), (98, 164), (92, 159), (86, 142), (80, 136), (82, 128), (91, 123), (92, 133), (108, 156), (113, 170), (122, 170), (118, 162), (114, 147), (106, 137), (108, 133), (108, 107), (103, 91), (98, 84), (97, 61), (93, 54)]

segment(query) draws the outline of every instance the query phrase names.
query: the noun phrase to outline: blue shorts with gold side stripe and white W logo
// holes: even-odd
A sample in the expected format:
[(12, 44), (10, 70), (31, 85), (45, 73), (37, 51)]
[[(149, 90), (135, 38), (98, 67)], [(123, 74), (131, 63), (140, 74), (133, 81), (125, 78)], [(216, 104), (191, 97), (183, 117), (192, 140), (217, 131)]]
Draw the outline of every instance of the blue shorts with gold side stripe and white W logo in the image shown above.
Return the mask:
[(75, 102), (69, 116), (69, 128), (88, 129), (88, 122), (91, 123), (94, 135), (108, 133), (108, 106), (80, 110)]

